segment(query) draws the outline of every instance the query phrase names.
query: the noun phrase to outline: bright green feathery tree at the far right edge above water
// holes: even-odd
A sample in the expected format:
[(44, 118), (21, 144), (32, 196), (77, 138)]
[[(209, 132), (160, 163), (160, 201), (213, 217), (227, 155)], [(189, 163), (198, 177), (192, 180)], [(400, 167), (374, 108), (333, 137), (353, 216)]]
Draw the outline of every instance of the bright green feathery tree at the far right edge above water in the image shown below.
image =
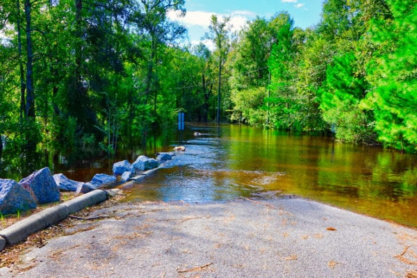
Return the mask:
[(363, 101), (375, 114), (379, 140), (417, 152), (417, 8), (415, 1), (388, 0), (392, 18), (371, 25), (379, 56), (368, 64), (373, 90)]

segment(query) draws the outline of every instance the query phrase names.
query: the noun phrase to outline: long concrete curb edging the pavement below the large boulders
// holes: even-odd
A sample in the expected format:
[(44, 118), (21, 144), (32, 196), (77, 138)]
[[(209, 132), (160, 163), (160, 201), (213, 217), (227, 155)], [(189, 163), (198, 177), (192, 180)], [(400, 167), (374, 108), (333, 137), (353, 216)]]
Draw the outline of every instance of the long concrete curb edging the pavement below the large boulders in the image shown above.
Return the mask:
[(58, 206), (35, 213), (0, 231), (0, 251), (6, 245), (15, 245), (30, 234), (64, 220), (70, 213), (80, 211), (87, 206), (99, 204), (106, 201), (106, 199), (108, 199), (108, 193), (105, 190), (96, 189)]

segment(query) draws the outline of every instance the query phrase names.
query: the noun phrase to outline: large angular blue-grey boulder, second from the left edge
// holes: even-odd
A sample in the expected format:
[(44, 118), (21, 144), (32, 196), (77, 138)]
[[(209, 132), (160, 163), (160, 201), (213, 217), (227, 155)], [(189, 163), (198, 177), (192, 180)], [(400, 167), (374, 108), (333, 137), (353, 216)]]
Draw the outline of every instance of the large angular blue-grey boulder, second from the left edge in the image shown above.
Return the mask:
[(49, 167), (33, 172), (19, 183), (33, 195), (38, 204), (57, 202), (60, 199), (58, 186)]

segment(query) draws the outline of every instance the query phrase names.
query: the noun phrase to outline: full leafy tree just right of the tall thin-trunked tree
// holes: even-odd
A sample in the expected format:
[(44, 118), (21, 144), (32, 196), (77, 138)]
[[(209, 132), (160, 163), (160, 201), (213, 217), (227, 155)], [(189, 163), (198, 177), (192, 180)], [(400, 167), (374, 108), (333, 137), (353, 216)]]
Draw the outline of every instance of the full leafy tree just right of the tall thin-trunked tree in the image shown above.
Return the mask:
[[(240, 32), (231, 50), (232, 121), (262, 125), (265, 122), (264, 99), (269, 82), (268, 58), (275, 32), (264, 18), (256, 17)], [(249, 101), (252, 99), (252, 101)], [(255, 100), (256, 99), (256, 100)], [(253, 115), (256, 115), (252, 117)]]

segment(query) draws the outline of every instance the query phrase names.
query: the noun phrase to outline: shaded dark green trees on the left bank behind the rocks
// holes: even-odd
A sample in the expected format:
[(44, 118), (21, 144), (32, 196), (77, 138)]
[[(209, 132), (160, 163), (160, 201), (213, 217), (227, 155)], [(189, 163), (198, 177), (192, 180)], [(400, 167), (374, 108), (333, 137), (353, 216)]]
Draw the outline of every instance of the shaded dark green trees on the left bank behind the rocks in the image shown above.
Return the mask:
[[(42, 148), (72, 163), (82, 153), (95, 156), (99, 146), (106, 152), (115, 152), (121, 141), (133, 146), (158, 124), (172, 124), (177, 96), (160, 90), (177, 88), (179, 78), (165, 85), (176, 73), (161, 65), (170, 64), (167, 44), (185, 31), (167, 20), (167, 10), (185, 12), (183, 0), (31, 1), (26, 15), (24, 5), (17, 10), (16, 4), (5, 1), (0, 8), (1, 32), (10, 38), (0, 44), (3, 161)], [(31, 49), (26, 18), (31, 19)], [(3, 32), (6, 27), (15, 30)], [(33, 72), (32, 119), (24, 117), (24, 102), (31, 99), (26, 70)]]

